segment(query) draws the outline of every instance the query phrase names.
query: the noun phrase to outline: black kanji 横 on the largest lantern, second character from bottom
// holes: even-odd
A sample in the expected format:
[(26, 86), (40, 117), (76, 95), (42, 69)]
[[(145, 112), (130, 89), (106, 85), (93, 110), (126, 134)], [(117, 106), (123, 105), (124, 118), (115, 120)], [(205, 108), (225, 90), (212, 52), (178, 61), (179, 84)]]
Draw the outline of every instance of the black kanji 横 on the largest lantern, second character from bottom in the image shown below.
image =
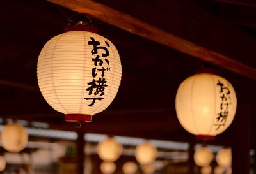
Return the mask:
[(99, 92), (101, 92), (100, 96), (103, 96), (105, 94), (103, 91), (105, 90), (105, 87), (108, 86), (106, 85), (106, 83), (107, 81), (105, 80), (105, 78), (99, 78), (99, 80), (97, 81), (93, 79), (92, 82), (87, 83), (88, 85), (90, 85), (90, 87), (88, 87), (86, 91), (89, 91), (89, 95), (91, 95), (93, 89), (96, 89), (94, 95), (96, 96), (97, 94), (99, 94)]

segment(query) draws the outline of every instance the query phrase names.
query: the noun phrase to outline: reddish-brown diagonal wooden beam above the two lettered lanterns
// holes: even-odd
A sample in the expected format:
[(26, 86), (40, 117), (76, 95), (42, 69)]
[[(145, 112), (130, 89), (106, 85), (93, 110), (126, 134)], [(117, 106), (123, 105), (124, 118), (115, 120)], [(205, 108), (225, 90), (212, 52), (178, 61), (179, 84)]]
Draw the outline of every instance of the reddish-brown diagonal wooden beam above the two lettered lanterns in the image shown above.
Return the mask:
[[(131, 17), (126, 13), (109, 8), (92, 0), (49, 0), (70, 10), (90, 15), (93, 18), (115, 25), (125, 31), (137, 34), (148, 40), (156, 41), (174, 48), (185, 54), (192, 55), (203, 61), (211, 62), (217, 66), (228, 69), (240, 75), (256, 80), (256, 69), (246, 64), (235, 61), (232, 57), (220, 54), (209, 48), (202, 47), (196, 43), (184, 40), (175, 34), (164, 31), (155, 25), (143, 22), (138, 18)], [(236, 48), (234, 48), (236, 49)]]

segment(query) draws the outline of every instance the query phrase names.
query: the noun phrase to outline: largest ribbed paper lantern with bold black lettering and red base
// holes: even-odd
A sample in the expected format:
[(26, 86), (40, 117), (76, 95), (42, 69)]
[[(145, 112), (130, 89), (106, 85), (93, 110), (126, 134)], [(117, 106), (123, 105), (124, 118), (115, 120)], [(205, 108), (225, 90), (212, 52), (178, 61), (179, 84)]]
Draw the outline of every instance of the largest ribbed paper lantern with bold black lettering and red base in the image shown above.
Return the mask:
[(49, 40), (38, 58), (40, 91), (67, 121), (91, 122), (116, 96), (122, 67), (111, 41), (89, 31), (68, 31)]

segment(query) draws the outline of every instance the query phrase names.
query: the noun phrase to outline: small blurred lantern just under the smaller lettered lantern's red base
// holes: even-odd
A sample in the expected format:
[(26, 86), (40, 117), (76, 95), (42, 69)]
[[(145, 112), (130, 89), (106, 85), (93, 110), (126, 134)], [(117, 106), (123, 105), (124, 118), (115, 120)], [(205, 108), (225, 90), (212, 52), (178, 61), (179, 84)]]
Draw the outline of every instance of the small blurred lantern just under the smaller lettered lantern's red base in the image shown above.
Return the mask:
[(195, 150), (194, 161), (200, 167), (209, 166), (213, 159), (212, 151), (207, 147), (200, 147)]

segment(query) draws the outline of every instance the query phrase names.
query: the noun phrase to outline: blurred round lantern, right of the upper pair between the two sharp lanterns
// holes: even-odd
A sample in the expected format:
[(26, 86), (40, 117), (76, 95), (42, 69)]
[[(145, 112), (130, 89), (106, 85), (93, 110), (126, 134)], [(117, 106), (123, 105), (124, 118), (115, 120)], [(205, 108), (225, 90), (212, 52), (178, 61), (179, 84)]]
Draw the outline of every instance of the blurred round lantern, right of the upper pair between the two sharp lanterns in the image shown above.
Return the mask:
[(153, 163), (157, 157), (157, 149), (152, 143), (141, 143), (135, 149), (135, 157), (140, 164)]

